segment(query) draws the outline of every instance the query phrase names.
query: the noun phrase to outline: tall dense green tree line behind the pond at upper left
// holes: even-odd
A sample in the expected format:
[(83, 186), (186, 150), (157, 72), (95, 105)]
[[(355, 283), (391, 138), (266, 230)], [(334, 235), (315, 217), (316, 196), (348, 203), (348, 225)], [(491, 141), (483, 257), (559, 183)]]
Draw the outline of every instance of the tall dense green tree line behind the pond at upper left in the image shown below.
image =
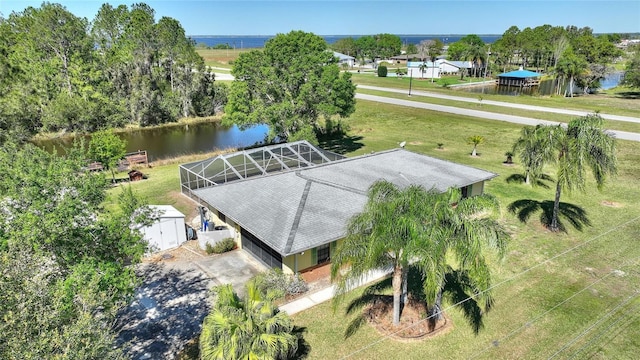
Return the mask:
[(144, 3), (89, 22), (43, 3), (0, 17), (0, 141), (214, 114), (224, 89), (178, 21)]

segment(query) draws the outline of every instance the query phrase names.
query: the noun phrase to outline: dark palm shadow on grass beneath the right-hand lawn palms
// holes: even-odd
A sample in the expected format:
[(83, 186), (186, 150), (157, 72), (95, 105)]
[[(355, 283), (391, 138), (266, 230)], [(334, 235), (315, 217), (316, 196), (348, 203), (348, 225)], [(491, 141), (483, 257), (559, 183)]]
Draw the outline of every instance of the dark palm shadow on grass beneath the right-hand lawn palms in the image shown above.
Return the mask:
[[(531, 215), (540, 212), (540, 223), (545, 227), (551, 225), (553, 216), (553, 201), (537, 201), (532, 199), (516, 200), (509, 204), (508, 210), (515, 214), (523, 223), (526, 223)], [(558, 227), (560, 231), (567, 232), (563, 219), (568, 221), (576, 230), (582, 231), (584, 226), (591, 226), (587, 212), (580, 206), (561, 202), (558, 215)]]

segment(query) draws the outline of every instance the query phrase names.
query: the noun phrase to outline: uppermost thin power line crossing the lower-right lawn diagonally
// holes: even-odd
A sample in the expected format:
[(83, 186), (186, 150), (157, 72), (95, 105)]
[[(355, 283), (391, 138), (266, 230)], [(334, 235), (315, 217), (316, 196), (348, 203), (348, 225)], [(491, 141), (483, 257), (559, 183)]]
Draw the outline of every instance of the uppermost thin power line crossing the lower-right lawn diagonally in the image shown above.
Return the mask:
[[(510, 278), (508, 278), (508, 279), (505, 279), (505, 280), (503, 280), (503, 281), (501, 281), (501, 282), (499, 282), (499, 283), (497, 283), (497, 284), (495, 284), (495, 285), (492, 285), (492, 286), (490, 286), (489, 288), (487, 288), (486, 290), (480, 291), (480, 292), (478, 292), (477, 294), (474, 294), (474, 295), (472, 295), (472, 296), (469, 296), (469, 297), (467, 297), (467, 298), (465, 298), (465, 299), (463, 299), (463, 300), (461, 300), (461, 301), (459, 301), (459, 302), (457, 302), (457, 303), (455, 303), (455, 304), (453, 304), (453, 305), (450, 305), (450, 306), (446, 307), (445, 309), (443, 309), (441, 312), (445, 312), (445, 311), (451, 310), (451, 309), (453, 309), (454, 307), (456, 307), (456, 306), (458, 306), (458, 305), (464, 304), (465, 302), (467, 302), (467, 301), (469, 301), (469, 300), (475, 299), (475, 298), (477, 298), (478, 296), (480, 296), (480, 295), (482, 295), (482, 294), (484, 294), (484, 293), (486, 293), (486, 292), (489, 292), (489, 291), (491, 291), (491, 290), (493, 290), (493, 289), (495, 289), (495, 288), (497, 288), (497, 287), (499, 287), (499, 286), (502, 286), (502, 285), (504, 285), (504, 284), (506, 284), (506, 283), (508, 283), (508, 282), (511, 282), (511, 281), (513, 281), (514, 279), (517, 279), (517, 278), (519, 278), (520, 276), (522, 276), (522, 275), (524, 275), (524, 274), (526, 274), (526, 273), (529, 273), (530, 271), (532, 271), (532, 270), (534, 270), (534, 269), (536, 269), (536, 268), (538, 268), (538, 267), (540, 267), (540, 266), (542, 266), (542, 265), (545, 265), (545, 264), (547, 264), (547, 263), (548, 263), (548, 262), (550, 262), (550, 261), (553, 261), (553, 260), (555, 260), (555, 259), (557, 259), (557, 258), (559, 258), (559, 257), (561, 257), (561, 256), (564, 256), (565, 254), (568, 254), (568, 253), (570, 253), (570, 252), (572, 252), (572, 251), (575, 251), (575, 250), (577, 250), (577, 249), (579, 249), (579, 248), (581, 248), (581, 247), (583, 247), (583, 246), (585, 246), (585, 245), (588, 245), (588, 244), (590, 244), (590, 243), (592, 243), (592, 242), (594, 242), (594, 241), (596, 241), (596, 240), (598, 240), (598, 239), (602, 238), (603, 236), (608, 235), (608, 234), (609, 234), (609, 233), (611, 233), (611, 232), (614, 232), (614, 231), (616, 231), (616, 230), (618, 230), (618, 229), (620, 229), (620, 228), (626, 227), (627, 225), (629, 225), (629, 224), (631, 224), (631, 223), (633, 223), (633, 222), (637, 221), (638, 219), (640, 219), (640, 216), (635, 217), (635, 218), (633, 218), (633, 219), (631, 219), (631, 220), (627, 220), (627, 221), (625, 221), (624, 223), (619, 224), (619, 225), (617, 225), (617, 226), (615, 226), (615, 227), (612, 227), (612, 228), (610, 228), (609, 230), (607, 230), (607, 231), (605, 231), (605, 232), (603, 232), (603, 233), (600, 233), (600, 234), (598, 234), (598, 235), (594, 236), (593, 238), (591, 238), (591, 239), (589, 239), (589, 240), (587, 240), (587, 241), (585, 241), (585, 242), (583, 242), (583, 243), (577, 244), (577, 245), (575, 245), (575, 246), (573, 246), (573, 247), (571, 247), (571, 248), (569, 248), (569, 249), (567, 249), (567, 250), (565, 250), (565, 251), (563, 251), (563, 252), (561, 252), (561, 253), (559, 253), (559, 254), (557, 254), (557, 255), (554, 255), (554, 256), (552, 256), (552, 257), (550, 257), (550, 258), (548, 258), (548, 259), (546, 259), (546, 260), (544, 260), (544, 261), (542, 261), (542, 262), (539, 262), (538, 264), (535, 264), (535, 265), (533, 265), (533, 266), (531, 266), (531, 267), (529, 267), (529, 268), (527, 268), (527, 269), (525, 269), (525, 270), (523, 270), (523, 271), (521, 271), (521, 272), (519, 272), (519, 273), (517, 273), (517, 274), (513, 275), (512, 277), (510, 277)], [(357, 354), (357, 353), (359, 353), (359, 352), (362, 352), (362, 351), (364, 351), (364, 350), (366, 350), (366, 349), (368, 349), (368, 348), (370, 348), (370, 347), (372, 347), (372, 346), (374, 346), (374, 345), (379, 344), (380, 342), (382, 342), (382, 341), (386, 340), (387, 338), (389, 338), (389, 337), (391, 337), (391, 336), (393, 336), (393, 335), (396, 335), (396, 334), (398, 334), (398, 333), (400, 333), (400, 332), (402, 332), (402, 331), (405, 331), (405, 330), (407, 330), (407, 329), (411, 329), (411, 328), (413, 328), (413, 327), (415, 327), (415, 326), (418, 326), (418, 325), (420, 325), (421, 323), (423, 323), (423, 322), (425, 322), (425, 321), (430, 320), (431, 318), (433, 318), (433, 317), (434, 317), (434, 316), (436, 316), (436, 315), (437, 315), (437, 314), (429, 315), (428, 317), (426, 317), (426, 318), (424, 318), (424, 319), (422, 319), (422, 320), (420, 320), (420, 321), (418, 321), (418, 322), (415, 322), (415, 323), (413, 323), (413, 324), (411, 324), (411, 325), (408, 325), (408, 326), (406, 326), (406, 327), (400, 328), (400, 329), (398, 329), (398, 330), (396, 330), (396, 331), (394, 331), (394, 332), (388, 333), (388, 334), (386, 334), (386, 335), (382, 336), (380, 339), (375, 340), (375, 341), (372, 341), (372, 342), (370, 342), (369, 344), (366, 344), (366, 345), (364, 345), (364, 346), (360, 347), (359, 349), (357, 349), (357, 350), (355, 350), (355, 351), (352, 351), (351, 353), (349, 353), (349, 354), (347, 354), (347, 355), (343, 356), (341, 359), (347, 359), (347, 358), (350, 358), (350, 357), (352, 357), (353, 355), (355, 355), (355, 354)]]

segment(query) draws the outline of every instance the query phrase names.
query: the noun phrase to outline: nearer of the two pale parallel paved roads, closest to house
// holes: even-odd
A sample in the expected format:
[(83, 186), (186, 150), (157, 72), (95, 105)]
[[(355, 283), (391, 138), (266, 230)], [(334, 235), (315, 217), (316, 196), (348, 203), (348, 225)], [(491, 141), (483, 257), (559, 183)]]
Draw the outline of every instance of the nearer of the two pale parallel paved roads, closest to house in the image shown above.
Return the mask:
[[(360, 87), (360, 85), (358, 87)], [(384, 88), (381, 88), (381, 89), (384, 89)], [(413, 92), (412, 92), (412, 94), (413, 94)], [(414, 108), (425, 109), (425, 110), (440, 111), (440, 112), (446, 112), (446, 113), (450, 113), (450, 114), (471, 116), (471, 117), (477, 117), (477, 118), (483, 118), (483, 119), (506, 121), (506, 122), (511, 122), (511, 123), (515, 123), (515, 124), (522, 124), (522, 125), (537, 125), (537, 124), (557, 125), (557, 124), (561, 124), (561, 123), (555, 122), (555, 121), (539, 120), (539, 119), (527, 118), (527, 117), (524, 117), (524, 116), (497, 114), (497, 113), (492, 113), (492, 112), (489, 112), (489, 111), (462, 109), (462, 108), (458, 108), (458, 107), (455, 107), (455, 106), (427, 104), (427, 103), (422, 103), (422, 102), (417, 102), (417, 101), (394, 99), (394, 98), (388, 98), (388, 97), (384, 97), (384, 96), (376, 96), (376, 95), (368, 95), (368, 94), (356, 94), (356, 99), (376, 101), (376, 102), (381, 102), (381, 103), (386, 103), (386, 104), (393, 104), (393, 105), (400, 105), (400, 106), (408, 106), (408, 107), (414, 107)], [(518, 104), (511, 104), (511, 105), (515, 105), (514, 107), (517, 107)], [(558, 110), (562, 110), (562, 109), (558, 109)], [(640, 122), (640, 119), (638, 119), (638, 121)], [(640, 142), (640, 134), (638, 134), (638, 133), (631, 133), (631, 132), (619, 131), (619, 130), (609, 130), (609, 131), (611, 133), (613, 133), (616, 136), (616, 138), (618, 138), (618, 139), (639, 141)]]

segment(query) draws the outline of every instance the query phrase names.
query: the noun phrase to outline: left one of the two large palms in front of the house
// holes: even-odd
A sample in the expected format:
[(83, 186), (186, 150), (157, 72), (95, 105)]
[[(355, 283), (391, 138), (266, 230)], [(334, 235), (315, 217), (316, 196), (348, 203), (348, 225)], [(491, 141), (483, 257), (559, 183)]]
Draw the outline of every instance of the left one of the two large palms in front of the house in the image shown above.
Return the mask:
[(337, 282), (334, 305), (370, 271), (391, 269), (393, 324), (400, 323), (407, 267), (424, 235), (426, 194), (417, 185), (403, 190), (388, 181), (371, 185), (364, 210), (350, 219), (347, 235), (332, 258), (331, 281)]

